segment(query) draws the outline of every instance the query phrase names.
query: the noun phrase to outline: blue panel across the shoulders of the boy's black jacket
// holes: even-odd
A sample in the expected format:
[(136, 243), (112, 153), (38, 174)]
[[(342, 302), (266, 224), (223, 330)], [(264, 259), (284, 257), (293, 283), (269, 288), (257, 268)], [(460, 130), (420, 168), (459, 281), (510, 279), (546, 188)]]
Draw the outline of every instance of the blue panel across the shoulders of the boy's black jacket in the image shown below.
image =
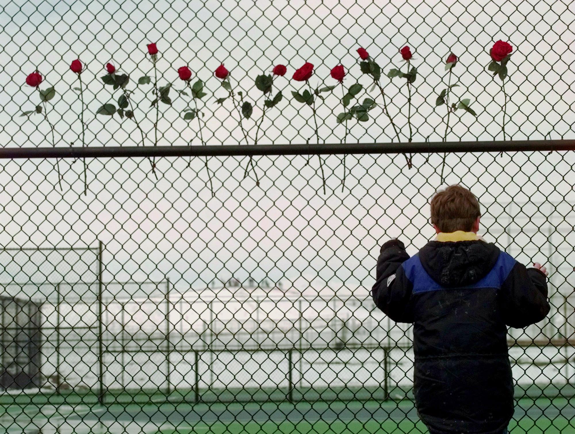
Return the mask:
[(431, 278), (421, 265), (419, 254), (412, 256), (401, 264), (405, 270), (405, 276), (413, 284), (413, 294), (418, 292), (435, 291), (438, 289), (472, 289), (472, 288), (501, 288), (501, 285), (509, 276), (509, 272), (515, 265), (515, 259), (502, 251), (497, 257), (497, 262), (485, 277), (481, 278), (473, 285), (461, 286), (457, 288), (445, 288)]

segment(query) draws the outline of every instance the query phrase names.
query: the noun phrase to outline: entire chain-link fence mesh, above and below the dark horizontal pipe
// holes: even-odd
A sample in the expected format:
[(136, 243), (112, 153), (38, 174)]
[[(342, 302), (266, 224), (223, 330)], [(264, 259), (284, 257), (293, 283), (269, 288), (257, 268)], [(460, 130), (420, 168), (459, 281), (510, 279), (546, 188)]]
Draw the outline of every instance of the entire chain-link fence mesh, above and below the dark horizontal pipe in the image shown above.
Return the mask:
[[(0, 6), (0, 144), (573, 139), (574, 17), (559, 0), (12, 0)], [(497, 40), (513, 47), (504, 90), (488, 70)], [(386, 76), (407, 72), (406, 44), (409, 89)], [(359, 47), (381, 66), (375, 87)], [(337, 84), (315, 94), (313, 112), (292, 97), (306, 88), (291, 79), (305, 61), (312, 93)], [(221, 63), (233, 96), (214, 77)], [(277, 64), (287, 73), (270, 96), (255, 78)], [(343, 85), (330, 76), (338, 64)], [(36, 69), (41, 92), (24, 84)], [(350, 107), (376, 105), (338, 123), (356, 83)], [(451, 84), (450, 102), (469, 98), (477, 116), (436, 106)], [(105, 104), (112, 116), (97, 114)], [(145, 158), (3, 160), (1, 429), (427, 432), (412, 329), (375, 309), (369, 289), (381, 243), (400, 237), (415, 254), (434, 235), (428, 200), (461, 183), (480, 199), (486, 241), (550, 270), (549, 316), (508, 334), (510, 429), (575, 432), (575, 157), (468, 152), (447, 154), (444, 169), (442, 157), (414, 154), (408, 168), (401, 155), (270, 154), (247, 173), (236, 156), (154, 158), (154, 173)]]

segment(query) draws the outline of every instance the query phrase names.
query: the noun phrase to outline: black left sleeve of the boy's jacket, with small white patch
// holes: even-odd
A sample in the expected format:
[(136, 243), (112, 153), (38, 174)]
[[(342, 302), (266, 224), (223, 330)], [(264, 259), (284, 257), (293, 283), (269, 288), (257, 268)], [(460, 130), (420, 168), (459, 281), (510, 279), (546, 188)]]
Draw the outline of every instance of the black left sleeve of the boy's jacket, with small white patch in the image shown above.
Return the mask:
[(371, 296), (375, 305), (398, 323), (412, 323), (410, 307), (413, 285), (401, 264), (409, 259), (404, 244), (398, 239), (386, 242), (379, 252), (375, 284)]

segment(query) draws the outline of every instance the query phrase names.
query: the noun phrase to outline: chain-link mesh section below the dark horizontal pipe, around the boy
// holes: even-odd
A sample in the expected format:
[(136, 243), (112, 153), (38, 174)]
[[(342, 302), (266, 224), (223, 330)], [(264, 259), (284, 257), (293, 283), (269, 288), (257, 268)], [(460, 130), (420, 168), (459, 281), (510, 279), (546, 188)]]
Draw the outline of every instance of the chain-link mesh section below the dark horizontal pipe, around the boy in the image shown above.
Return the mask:
[[(433, 236), (442, 156), (426, 157), (410, 172), (401, 155), (350, 155), (342, 193), (327, 156), (326, 196), (306, 156), (256, 157), (260, 187), (243, 179), (246, 158), (213, 157), (215, 197), (199, 158), (160, 158), (158, 181), (144, 158), (90, 161), (86, 196), (80, 177), (60, 193), (51, 161), (6, 161), (3, 427), (425, 432), (411, 327), (374, 309), (369, 288), (383, 241), (413, 254)], [(549, 317), (509, 332), (517, 432), (572, 430), (574, 164), (570, 152), (447, 157), (446, 183), (480, 197), (485, 238), (550, 269)]]

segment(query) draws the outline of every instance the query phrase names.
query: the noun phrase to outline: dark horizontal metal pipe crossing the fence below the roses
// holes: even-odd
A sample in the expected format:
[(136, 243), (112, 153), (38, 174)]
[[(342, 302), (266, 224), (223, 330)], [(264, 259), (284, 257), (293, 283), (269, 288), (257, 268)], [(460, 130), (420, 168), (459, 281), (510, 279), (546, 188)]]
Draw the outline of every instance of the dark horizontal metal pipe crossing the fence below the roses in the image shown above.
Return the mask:
[(70, 148), (0, 148), (0, 158), (130, 158), (214, 157), (315, 154), (397, 154), (438, 152), (516, 152), (575, 150), (575, 139), (468, 142), (208, 145), (208, 146), (99, 146)]

